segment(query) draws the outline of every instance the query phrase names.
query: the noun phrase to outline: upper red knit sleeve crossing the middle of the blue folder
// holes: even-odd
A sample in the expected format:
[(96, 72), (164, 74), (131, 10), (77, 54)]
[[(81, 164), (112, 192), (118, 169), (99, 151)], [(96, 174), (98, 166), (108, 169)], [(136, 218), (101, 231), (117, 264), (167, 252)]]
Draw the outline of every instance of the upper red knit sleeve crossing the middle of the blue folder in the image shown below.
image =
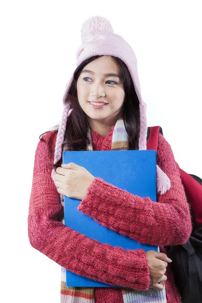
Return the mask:
[(162, 134), (157, 163), (171, 181), (166, 193), (158, 193), (158, 203), (97, 177), (77, 209), (140, 243), (160, 246), (185, 243), (192, 228), (189, 206), (171, 146)]

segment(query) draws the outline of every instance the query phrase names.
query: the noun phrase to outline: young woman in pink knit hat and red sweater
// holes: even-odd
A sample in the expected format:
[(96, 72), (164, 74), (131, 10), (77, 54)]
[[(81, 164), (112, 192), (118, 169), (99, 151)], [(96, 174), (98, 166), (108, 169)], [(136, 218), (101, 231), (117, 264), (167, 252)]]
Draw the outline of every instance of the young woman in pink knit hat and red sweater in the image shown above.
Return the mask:
[[(146, 105), (135, 54), (108, 20), (96, 16), (83, 24), (76, 58), (60, 125), (44, 133), (36, 148), (30, 243), (62, 266), (61, 302), (179, 303), (164, 246), (185, 243), (191, 219), (166, 139), (160, 134), (158, 203), (95, 178), (76, 163), (62, 165), (63, 150), (146, 149)], [(65, 226), (64, 195), (81, 199), (78, 211), (139, 242), (159, 245), (160, 252), (113, 247)], [(122, 287), (67, 287), (65, 269)]]

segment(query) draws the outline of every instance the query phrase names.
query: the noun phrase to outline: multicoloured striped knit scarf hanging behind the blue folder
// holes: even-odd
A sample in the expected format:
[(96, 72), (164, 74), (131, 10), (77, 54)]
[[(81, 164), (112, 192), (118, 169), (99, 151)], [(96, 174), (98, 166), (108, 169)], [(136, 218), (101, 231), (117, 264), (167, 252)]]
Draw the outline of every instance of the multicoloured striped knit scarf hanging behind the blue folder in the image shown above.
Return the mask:
[[(93, 150), (91, 130), (88, 130), (88, 138), (90, 143), (87, 146), (87, 150)], [(118, 119), (112, 136), (112, 150), (127, 150), (128, 149), (128, 135), (125, 129), (124, 121), (122, 118)], [(63, 148), (63, 151), (68, 150)], [(163, 171), (157, 166), (157, 184), (160, 184), (162, 176), (167, 177)], [(167, 177), (168, 178), (168, 177)], [(160, 184), (158, 186), (162, 188)], [(64, 196), (61, 194), (61, 204), (64, 208)], [(62, 220), (64, 224), (64, 219)], [(118, 288), (122, 292), (122, 299), (116, 303), (166, 303), (166, 291), (165, 287), (162, 291), (158, 291), (153, 288), (149, 288), (147, 291), (134, 290), (132, 288)], [(108, 291), (106, 287), (105, 291)], [(110, 292), (109, 292), (109, 302)], [(61, 303), (96, 303), (95, 302), (95, 287), (67, 287), (66, 286), (66, 269), (61, 268)]]

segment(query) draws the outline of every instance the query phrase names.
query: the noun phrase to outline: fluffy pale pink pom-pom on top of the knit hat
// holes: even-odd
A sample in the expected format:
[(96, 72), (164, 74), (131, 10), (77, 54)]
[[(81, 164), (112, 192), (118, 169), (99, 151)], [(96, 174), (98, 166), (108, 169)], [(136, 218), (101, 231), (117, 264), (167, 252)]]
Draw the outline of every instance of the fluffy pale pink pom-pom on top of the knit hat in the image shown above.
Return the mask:
[(109, 32), (113, 33), (114, 30), (109, 20), (101, 16), (94, 16), (88, 18), (81, 28), (81, 41), (82, 44), (89, 42), (93, 39), (93, 34)]

